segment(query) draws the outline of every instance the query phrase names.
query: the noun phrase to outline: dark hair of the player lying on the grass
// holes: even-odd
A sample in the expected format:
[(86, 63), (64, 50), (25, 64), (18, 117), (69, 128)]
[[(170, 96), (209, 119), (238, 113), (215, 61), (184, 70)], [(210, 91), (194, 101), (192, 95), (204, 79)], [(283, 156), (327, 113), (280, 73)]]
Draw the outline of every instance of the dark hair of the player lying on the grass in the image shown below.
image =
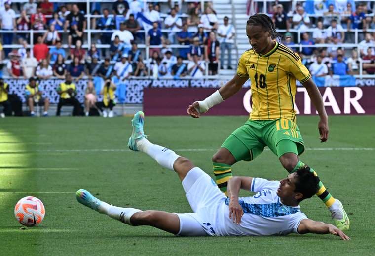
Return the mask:
[(311, 198), (319, 190), (319, 178), (310, 171), (310, 167), (307, 165), (296, 171), (295, 175), (295, 186), (294, 192), (303, 194), (302, 201), (307, 198)]

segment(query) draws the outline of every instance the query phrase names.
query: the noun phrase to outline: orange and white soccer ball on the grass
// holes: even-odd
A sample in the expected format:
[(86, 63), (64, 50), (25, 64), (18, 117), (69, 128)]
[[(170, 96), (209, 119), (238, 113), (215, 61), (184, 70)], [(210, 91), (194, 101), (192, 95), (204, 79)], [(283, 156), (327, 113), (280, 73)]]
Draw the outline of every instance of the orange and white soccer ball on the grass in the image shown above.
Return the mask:
[(43, 203), (34, 196), (21, 198), (14, 207), (14, 215), (19, 223), (25, 226), (36, 226), (44, 218)]

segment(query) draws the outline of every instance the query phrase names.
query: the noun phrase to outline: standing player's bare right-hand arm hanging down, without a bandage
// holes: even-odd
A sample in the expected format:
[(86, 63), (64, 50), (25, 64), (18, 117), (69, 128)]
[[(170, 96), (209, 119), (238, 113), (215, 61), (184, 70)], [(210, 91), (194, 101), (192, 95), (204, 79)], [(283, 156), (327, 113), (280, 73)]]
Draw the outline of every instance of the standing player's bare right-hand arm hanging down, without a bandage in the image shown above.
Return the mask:
[(302, 84), (310, 96), (314, 107), (319, 113), (320, 121), (318, 124), (319, 134), (320, 134), (320, 142), (325, 142), (328, 139), (328, 115), (326, 113), (326, 109), (324, 108), (322, 95), (320, 94), (318, 88), (316, 87), (312, 78), (308, 79), (306, 82)]

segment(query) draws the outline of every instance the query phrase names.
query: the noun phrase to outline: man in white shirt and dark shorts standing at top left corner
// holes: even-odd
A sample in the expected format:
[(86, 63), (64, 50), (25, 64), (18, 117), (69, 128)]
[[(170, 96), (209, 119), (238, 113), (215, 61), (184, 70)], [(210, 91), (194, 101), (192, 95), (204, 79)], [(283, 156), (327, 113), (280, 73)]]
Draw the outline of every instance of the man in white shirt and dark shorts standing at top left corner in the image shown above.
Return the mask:
[[(11, 45), (13, 43), (13, 34), (17, 32), (16, 13), (10, 8), (10, 1), (5, 1), (4, 7), (4, 9), (0, 10), (1, 30), (11, 30), (11, 32), (2, 33), (2, 42), (3, 44)], [(10, 51), (10, 48), (5, 48), (5, 56), (8, 56)]]

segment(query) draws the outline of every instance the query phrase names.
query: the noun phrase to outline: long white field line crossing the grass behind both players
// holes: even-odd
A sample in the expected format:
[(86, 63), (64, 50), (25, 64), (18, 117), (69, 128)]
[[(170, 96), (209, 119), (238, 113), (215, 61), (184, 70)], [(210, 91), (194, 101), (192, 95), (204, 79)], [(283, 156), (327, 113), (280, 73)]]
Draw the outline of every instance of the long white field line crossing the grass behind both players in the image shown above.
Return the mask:
[[(174, 151), (217, 151), (218, 149), (173, 149)], [(265, 149), (270, 150), (270, 149)], [(306, 150), (375, 150), (375, 148), (306, 148)], [(8, 150), (0, 154), (33, 154), (36, 152), (130, 152), (130, 149), (37, 149), (37, 150)]]

